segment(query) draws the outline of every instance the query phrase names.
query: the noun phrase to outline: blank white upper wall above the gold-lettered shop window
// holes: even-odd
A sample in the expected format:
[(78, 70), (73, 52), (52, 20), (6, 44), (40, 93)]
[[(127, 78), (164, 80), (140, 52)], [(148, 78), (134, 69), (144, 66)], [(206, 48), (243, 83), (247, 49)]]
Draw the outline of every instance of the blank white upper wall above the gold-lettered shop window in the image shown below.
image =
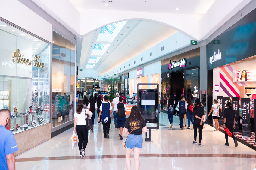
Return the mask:
[(51, 42), (52, 25), (17, 0), (0, 0), (0, 17)]

